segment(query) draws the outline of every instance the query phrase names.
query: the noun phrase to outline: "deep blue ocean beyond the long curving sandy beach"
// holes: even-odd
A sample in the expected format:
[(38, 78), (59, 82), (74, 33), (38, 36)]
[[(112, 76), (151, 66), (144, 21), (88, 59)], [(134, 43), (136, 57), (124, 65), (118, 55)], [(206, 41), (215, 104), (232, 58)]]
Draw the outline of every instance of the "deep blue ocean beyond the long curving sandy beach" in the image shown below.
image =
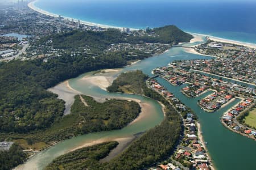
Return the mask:
[(256, 44), (256, 1), (38, 0), (42, 10), (115, 27), (174, 24), (187, 32)]

